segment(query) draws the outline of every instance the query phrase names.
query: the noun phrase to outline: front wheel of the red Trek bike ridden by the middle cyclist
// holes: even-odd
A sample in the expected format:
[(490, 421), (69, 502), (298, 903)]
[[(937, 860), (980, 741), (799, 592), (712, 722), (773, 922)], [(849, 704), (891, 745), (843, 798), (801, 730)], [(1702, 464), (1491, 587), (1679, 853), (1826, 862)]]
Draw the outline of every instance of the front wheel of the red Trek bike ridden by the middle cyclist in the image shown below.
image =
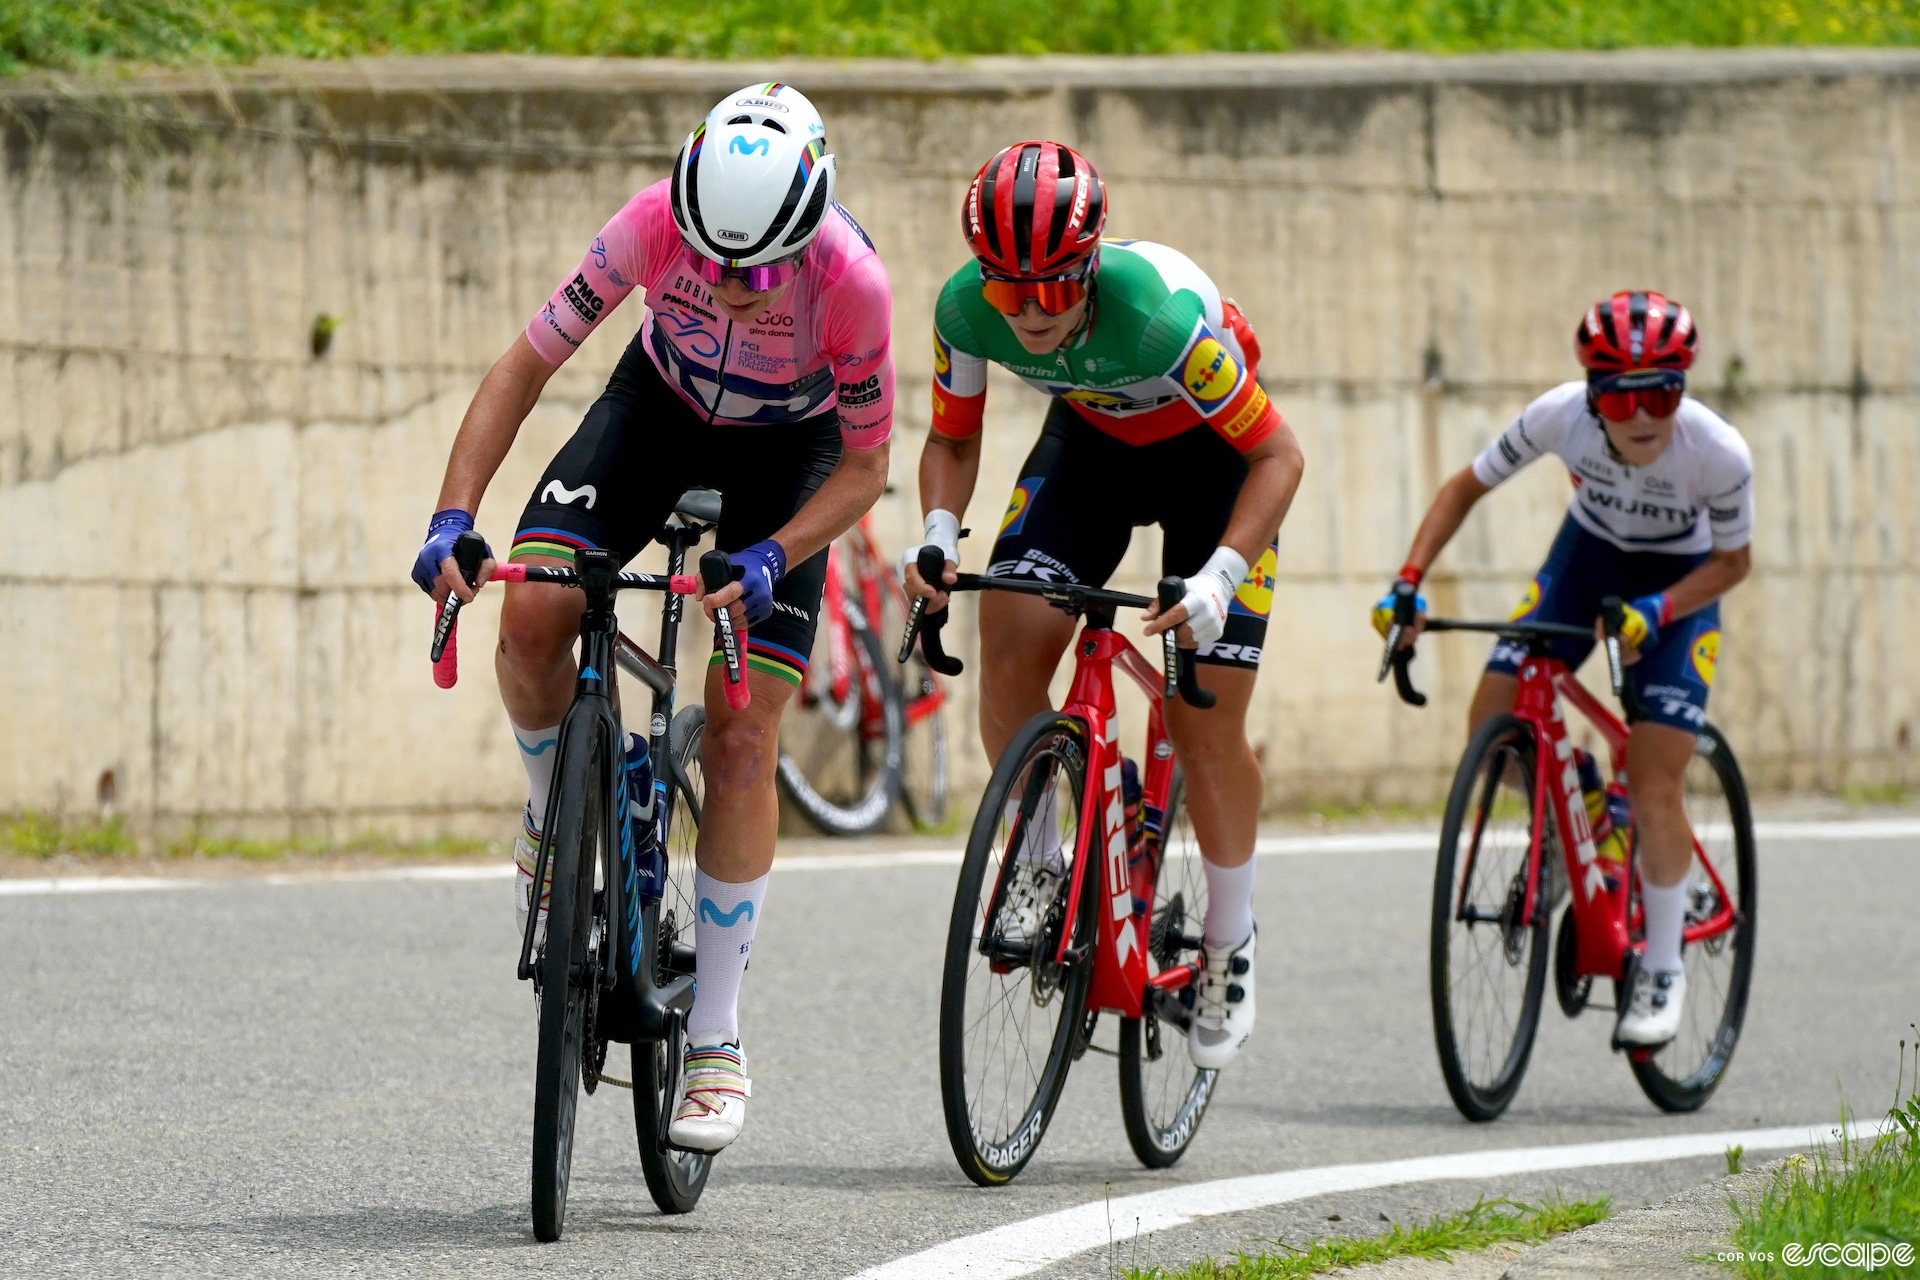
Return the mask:
[[(1054, 1105), (1066, 1088), (1068, 1069), (1073, 1063), (1077, 1032), (1087, 1006), (1087, 984), (1092, 981), (1091, 938), (1094, 933), (1092, 906), (1098, 900), (1098, 883), (1081, 887), (1081, 912), (1071, 923), (1073, 946), (1087, 946), (1077, 961), (1054, 963), (1060, 929), (1068, 927), (1066, 904), (1073, 875), (1098, 871), (1096, 865), (1075, 865), (1073, 848), (1083, 819), (1081, 800), (1085, 796), (1091, 739), (1087, 723), (1058, 712), (1033, 716), (1020, 733), (1014, 735), (1000, 764), (993, 770), (987, 793), (981, 796), (979, 812), (973, 816), (973, 831), (968, 837), (966, 860), (960, 864), (960, 879), (954, 887), (954, 910), (947, 927), (947, 960), (941, 973), (941, 1109), (947, 1117), (947, 1140), (952, 1146), (960, 1171), (979, 1186), (1002, 1186), (1012, 1182), (1033, 1159), (1052, 1121)], [(1060, 885), (1044, 910), (1035, 912), (1037, 938), (1023, 958), (989, 958), (981, 950), (981, 936), (995, 936), (1000, 913), (1006, 910), (1006, 890), (996, 890), (1000, 869), (1006, 864), (1006, 841), (1000, 839), (1004, 827), (1004, 808), (1010, 796), (1021, 794), (1021, 812), (1039, 806), (1043, 789), (1052, 787), (1058, 812), (1069, 816), (1071, 823), (1062, 829), (1060, 844), (1068, 865)], [(1021, 839), (1025, 837), (1025, 827)], [(1012, 835), (1008, 831), (1008, 835)], [(1016, 860), (1018, 865), (1018, 860)], [(989, 877), (991, 873), (991, 877)], [(1012, 879), (1012, 875), (1008, 875)], [(987, 919), (989, 913), (993, 919)], [(975, 927), (981, 933), (975, 933)], [(1018, 948), (1008, 946), (1008, 954)], [(1035, 963), (1037, 961), (1037, 963)], [(996, 965), (1000, 967), (998, 971)], [(979, 977), (979, 983), (970, 979)], [(1000, 981), (995, 979), (1008, 979)], [(1039, 979), (1039, 981), (1037, 981)], [(970, 990), (979, 988), (987, 1004), (979, 1017), (972, 1017)], [(995, 998), (995, 988), (1000, 996)], [(1050, 1017), (1037, 1029), (1035, 1044), (1044, 1040), (1044, 1057), (1039, 1073), (1033, 1071), (1033, 1054), (1023, 1052), (1018, 1067), (1023, 1067), (1027, 1082), (1014, 1086), (1014, 1065), (998, 1075), (1008, 1077), (1006, 1088), (998, 1090), (1000, 1117), (991, 1121), (991, 1134), (983, 1134), (983, 1119), (975, 1117), (975, 1100), (985, 1105), (995, 1096), (995, 1075), (987, 1061), (991, 1048), (981, 1044), (981, 1061), (973, 1063), (979, 1088), (970, 1088), (968, 1048), (975, 1040), (970, 1032), (995, 1009), (1002, 1009), (1000, 1023), (993, 1029), (993, 1044), (1004, 1046), (1008, 1032), (1020, 1034), (1020, 1025), (1012, 1013), (1037, 1009)], [(1052, 1006), (1048, 1009), (1048, 1006)], [(1025, 1046), (1025, 1042), (1021, 1042)], [(1014, 1119), (1008, 1121), (1010, 1103), (1016, 1092)]]

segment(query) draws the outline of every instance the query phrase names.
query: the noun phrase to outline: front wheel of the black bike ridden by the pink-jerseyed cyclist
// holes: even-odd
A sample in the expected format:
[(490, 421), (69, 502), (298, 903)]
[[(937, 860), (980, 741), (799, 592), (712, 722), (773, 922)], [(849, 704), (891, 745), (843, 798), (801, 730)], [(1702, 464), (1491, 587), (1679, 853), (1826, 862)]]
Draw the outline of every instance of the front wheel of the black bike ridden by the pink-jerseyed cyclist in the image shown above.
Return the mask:
[(547, 935), (540, 950), (540, 1052), (534, 1065), (534, 1238), (553, 1242), (566, 1222), (574, 1159), (574, 1113), (588, 1002), (599, 975), (588, 963), (593, 867), (605, 837), (607, 766), (603, 725), (574, 716), (563, 729), (555, 806)]

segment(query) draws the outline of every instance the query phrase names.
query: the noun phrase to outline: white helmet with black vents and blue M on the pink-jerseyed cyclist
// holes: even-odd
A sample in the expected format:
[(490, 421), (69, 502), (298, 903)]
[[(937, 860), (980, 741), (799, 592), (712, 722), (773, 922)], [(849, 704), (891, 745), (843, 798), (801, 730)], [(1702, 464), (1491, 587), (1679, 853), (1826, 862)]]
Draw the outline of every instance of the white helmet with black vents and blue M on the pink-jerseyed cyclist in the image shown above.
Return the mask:
[(728, 94), (674, 161), (674, 223), (703, 257), (756, 267), (793, 257), (833, 203), (820, 111), (791, 84)]

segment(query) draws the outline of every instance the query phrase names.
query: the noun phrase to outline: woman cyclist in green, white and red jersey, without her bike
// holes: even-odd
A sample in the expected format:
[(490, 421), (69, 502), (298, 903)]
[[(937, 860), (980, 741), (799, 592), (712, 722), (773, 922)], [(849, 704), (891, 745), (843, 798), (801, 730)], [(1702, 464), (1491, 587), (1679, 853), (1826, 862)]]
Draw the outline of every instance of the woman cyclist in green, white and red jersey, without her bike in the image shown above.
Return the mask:
[[(962, 209), (973, 261), (941, 290), (933, 324), (933, 430), (920, 455), (927, 545), (960, 560), (960, 514), (979, 476), (987, 365), (1052, 397), (1000, 520), (996, 576), (1100, 585), (1135, 526), (1164, 533), (1162, 572), (1187, 597), (1148, 635), (1179, 628), (1198, 645), (1212, 710), (1165, 708), (1206, 862), (1204, 973), (1187, 1052), (1221, 1067), (1254, 1029), (1254, 833), (1260, 764), (1246, 743), (1273, 604), (1275, 537), (1300, 486), (1302, 457), (1256, 368), (1240, 311), (1185, 255), (1140, 240), (1100, 240), (1106, 186), (1058, 142), (1020, 142), (975, 175)], [(908, 553), (908, 591), (945, 604)], [(989, 758), (1037, 712), (1073, 637), (1043, 599), (979, 603), (979, 731)], [(1060, 887), (1056, 823), (1016, 854), (1035, 917)], [(1050, 846), (1048, 846), (1050, 844)], [(1018, 921), (1016, 921), (1018, 925)]]

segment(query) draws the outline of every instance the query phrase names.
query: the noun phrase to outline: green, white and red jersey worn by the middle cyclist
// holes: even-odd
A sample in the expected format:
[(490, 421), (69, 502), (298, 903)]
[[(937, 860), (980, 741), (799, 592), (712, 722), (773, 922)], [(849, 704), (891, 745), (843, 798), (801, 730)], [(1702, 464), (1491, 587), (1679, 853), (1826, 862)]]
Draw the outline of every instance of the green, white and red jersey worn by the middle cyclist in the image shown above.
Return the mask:
[[(1033, 355), (979, 292), (968, 261), (933, 311), (933, 430), (979, 432), (987, 361), (1056, 395), (1131, 445), (1202, 422), (1240, 451), (1281, 422), (1256, 380), (1254, 330), (1185, 253), (1146, 240), (1104, 240), (1091, 320), (1068, 345)], [(1248, 349), (1252, 347), (1252, 351)]]

